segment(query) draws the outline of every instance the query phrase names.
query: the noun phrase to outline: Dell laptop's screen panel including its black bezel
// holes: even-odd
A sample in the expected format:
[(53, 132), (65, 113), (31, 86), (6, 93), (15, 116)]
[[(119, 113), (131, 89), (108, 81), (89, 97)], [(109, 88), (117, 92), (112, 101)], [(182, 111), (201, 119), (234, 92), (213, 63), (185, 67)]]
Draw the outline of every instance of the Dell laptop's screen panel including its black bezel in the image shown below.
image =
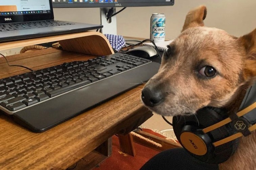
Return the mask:
[(0, 23), (53, 20), (51, 0), (1, 0)]

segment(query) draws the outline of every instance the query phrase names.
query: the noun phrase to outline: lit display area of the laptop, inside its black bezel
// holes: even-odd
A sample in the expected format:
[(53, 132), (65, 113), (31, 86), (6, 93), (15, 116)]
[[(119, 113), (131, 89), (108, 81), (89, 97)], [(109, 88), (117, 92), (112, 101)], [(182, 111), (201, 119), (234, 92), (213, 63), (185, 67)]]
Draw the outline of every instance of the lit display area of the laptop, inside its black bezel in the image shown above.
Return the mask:
[(49, 0), (1, 0), (0, 15), (50, 13)]

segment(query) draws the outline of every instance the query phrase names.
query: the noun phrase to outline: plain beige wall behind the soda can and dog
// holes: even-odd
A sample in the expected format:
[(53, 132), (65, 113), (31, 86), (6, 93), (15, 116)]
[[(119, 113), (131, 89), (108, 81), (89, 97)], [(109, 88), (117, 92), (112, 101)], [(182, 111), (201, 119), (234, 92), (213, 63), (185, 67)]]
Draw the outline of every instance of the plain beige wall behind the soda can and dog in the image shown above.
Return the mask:
[[(150, 16), (164, 13), (166, 38), (179, 35), (187, 12), (206, 5), (205, 25), (241, 36), (256, 28), (256, 0), (175, 0), (174, 6), (128, 7), (117, 15), (117, 32), (123, 36), (149, 37)], [(121, 8), (117, 8), (117, 11)], [(99, 24), (99, 8), (55, 8), (55, 19)]]

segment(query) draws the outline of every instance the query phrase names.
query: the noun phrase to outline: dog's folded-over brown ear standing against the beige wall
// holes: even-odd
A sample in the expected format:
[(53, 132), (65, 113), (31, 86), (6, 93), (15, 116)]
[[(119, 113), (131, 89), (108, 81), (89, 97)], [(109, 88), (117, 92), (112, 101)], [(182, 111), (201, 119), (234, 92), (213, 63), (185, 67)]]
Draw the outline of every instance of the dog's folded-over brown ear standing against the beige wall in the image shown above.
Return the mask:
[(190, 27), (204, 26), (203, 20), (206, 18), (207, 9), (206, 6), (199, 6), (190, 10), (186, 16), (182, 31)]

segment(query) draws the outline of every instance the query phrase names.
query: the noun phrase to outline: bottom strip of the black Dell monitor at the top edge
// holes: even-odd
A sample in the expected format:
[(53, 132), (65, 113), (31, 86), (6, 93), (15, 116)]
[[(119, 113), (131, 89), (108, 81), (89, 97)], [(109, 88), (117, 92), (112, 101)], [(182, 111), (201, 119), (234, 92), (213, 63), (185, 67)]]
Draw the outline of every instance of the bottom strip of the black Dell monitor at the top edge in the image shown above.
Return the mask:
[(167, 6), (174, 0), (52, 0), (53, 7)]

